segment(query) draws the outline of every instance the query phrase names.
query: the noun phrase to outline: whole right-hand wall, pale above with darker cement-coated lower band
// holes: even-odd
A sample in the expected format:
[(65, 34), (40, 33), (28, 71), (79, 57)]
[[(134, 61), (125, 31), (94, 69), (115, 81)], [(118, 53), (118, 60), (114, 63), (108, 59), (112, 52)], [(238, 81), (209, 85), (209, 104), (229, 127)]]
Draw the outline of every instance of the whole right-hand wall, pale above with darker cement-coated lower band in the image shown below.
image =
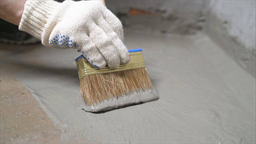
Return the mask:
[(207, 1), (204, 30), (255, 77), (256, 1)]

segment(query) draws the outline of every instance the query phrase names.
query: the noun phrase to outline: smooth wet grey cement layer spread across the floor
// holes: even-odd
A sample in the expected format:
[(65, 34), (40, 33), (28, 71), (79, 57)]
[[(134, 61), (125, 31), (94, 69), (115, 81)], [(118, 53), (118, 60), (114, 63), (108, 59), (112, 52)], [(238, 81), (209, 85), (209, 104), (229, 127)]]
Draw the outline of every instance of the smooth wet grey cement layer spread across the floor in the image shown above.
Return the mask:
[(1, 44), (1, 63), (23, 66), (16, 78), (62, 131), (63, 143), (255, 143), (255, 78), (206, 35), (126, 31), (124, 43), (143, 49), (160, 99), (82, 110), (75, 49)]

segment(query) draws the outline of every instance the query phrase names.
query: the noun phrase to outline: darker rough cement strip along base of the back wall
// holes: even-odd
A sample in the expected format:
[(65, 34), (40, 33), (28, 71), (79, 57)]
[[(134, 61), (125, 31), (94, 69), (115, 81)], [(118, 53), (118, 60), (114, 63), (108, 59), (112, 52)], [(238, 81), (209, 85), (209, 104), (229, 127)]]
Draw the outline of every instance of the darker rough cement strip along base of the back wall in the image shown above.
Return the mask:
[(198, 14), (193, 20), (184, 20), (170, 14), (167, 18), (159, 15), (134, 15), (118, 14), (124, 25), (124, 29), (133, 31), (150, 31), (152, 33), (170, 34), (196, 34), (203, 28), (204, 17)]

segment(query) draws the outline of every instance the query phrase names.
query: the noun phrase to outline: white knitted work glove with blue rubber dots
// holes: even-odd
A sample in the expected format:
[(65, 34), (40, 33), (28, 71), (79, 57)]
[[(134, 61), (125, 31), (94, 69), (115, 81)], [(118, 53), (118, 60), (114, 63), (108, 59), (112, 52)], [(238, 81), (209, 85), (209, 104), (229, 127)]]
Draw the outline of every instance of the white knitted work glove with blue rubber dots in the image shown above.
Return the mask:
[(115, 69), (130, 59), (121, 22), (99, 1), (27, 0), (19, 29), (45, 46), (79, 48), (98, 69)]

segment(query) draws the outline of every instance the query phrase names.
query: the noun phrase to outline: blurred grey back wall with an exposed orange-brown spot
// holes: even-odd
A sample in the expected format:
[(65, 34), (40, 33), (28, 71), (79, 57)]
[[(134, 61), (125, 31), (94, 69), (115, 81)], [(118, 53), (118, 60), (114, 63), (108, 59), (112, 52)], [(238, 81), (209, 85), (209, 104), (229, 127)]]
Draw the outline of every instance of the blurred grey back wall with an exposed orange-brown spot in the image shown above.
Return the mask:
[(202, 29), (205, 4), (205, 1), (106, 1), (125, 29), (177, 34), (195, 34)]

